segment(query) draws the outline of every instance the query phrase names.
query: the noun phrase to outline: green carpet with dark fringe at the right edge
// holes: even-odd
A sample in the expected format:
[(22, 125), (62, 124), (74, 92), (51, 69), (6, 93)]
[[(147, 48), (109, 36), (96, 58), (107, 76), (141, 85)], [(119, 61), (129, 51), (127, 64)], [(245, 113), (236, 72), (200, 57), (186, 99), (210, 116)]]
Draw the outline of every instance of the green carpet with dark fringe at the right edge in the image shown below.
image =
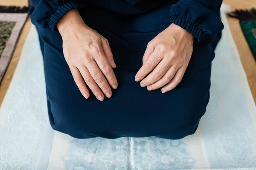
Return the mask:
[(256, 9), (236, 10), (230, 12), (228, 16), (239, 19), (244, 37), (256, 59)]

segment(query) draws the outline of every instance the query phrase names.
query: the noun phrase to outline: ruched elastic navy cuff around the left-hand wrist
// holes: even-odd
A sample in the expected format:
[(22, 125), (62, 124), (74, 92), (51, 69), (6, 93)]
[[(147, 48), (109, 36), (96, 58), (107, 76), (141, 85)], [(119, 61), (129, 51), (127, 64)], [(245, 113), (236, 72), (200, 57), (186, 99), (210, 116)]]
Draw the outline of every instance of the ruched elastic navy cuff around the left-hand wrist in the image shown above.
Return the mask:
[(57, 23), (61, 18), (70, 10), (78, 8), (78, 4), (74, 2), (67, 2), (59, 6), (53, 14), (50, 15), (48, 21), (49, 28), (51, 28), (54, 31), (57, 30)]

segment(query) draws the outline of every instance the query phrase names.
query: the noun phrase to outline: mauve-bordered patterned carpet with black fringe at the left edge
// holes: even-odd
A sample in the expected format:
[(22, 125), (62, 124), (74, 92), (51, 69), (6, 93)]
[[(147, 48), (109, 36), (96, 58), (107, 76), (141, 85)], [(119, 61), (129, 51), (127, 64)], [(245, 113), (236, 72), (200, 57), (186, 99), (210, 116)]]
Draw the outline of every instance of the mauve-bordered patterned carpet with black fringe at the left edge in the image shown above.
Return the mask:
[(26, 7), (0, 6), (0, 83), (27, 17)]

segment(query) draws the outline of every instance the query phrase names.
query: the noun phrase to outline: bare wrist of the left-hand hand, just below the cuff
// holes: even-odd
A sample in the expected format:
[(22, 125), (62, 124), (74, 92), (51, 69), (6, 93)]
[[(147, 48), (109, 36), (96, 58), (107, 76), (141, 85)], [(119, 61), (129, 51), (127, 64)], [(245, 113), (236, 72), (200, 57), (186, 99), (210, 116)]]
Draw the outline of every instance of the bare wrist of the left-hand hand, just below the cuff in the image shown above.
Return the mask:
[[(73, 9), (65, 14), (57, 23), (58, 31), (61, 35), (66, 34), (74, 29), (79, 28), (79, 25), (85, 25), (77, 9)], [(86, 26), (86, 25), (85, 25)]]

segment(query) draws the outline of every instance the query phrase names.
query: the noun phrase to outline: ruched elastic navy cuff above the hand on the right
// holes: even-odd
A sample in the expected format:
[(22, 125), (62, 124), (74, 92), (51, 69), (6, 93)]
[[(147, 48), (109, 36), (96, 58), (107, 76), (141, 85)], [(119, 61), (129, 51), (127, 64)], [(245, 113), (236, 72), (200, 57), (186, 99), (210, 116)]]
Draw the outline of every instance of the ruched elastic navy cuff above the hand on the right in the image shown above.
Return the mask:
[(187, 18), (184, 18), (178, 14), (175, 14), (169, 17), (169, 20), (167, 21), (167, 23), (174, 23), (175, 25), (185, 29), (190, 34), (192, 34), (195, 40), (197, 40), (198, 42), (200, 42), (204, 38), (205, 32), (203, 31), (202, 28), (200, 28), (195, 23), (192, 23)]

